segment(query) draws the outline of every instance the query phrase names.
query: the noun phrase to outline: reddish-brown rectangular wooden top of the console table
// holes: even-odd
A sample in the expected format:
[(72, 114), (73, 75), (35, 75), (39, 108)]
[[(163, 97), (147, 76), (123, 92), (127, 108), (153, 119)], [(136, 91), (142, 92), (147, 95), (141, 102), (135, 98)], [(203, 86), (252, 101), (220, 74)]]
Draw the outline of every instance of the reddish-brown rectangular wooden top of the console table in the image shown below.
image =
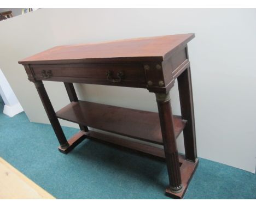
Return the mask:
[(165, 60), (179, 47), (194, 38), (194, 34), (165, 35), (150, 38), (117, 40), (50, 48), (21, 60), (20, 64), (51, 63), (63, 60), (86, 61), (145, 61)]

